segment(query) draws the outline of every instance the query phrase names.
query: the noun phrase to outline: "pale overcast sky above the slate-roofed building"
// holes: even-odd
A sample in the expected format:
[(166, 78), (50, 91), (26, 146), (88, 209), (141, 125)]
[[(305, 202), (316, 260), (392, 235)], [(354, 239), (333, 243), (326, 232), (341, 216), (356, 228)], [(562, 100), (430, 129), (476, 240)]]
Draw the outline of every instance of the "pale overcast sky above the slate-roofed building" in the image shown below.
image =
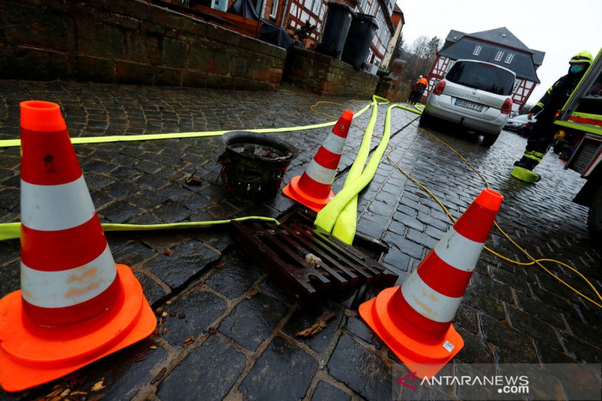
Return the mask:
[(568, 71), (577, 52), (602, 48), (602, 0), (397, 0), (406, 25), (407, 46), (420, 35), (443, 40), (450, 29), (467, 34), (506, 26), (530, 49), (545, 52), (537, 70), (541, 84), (527, 103), (535, 104)]

